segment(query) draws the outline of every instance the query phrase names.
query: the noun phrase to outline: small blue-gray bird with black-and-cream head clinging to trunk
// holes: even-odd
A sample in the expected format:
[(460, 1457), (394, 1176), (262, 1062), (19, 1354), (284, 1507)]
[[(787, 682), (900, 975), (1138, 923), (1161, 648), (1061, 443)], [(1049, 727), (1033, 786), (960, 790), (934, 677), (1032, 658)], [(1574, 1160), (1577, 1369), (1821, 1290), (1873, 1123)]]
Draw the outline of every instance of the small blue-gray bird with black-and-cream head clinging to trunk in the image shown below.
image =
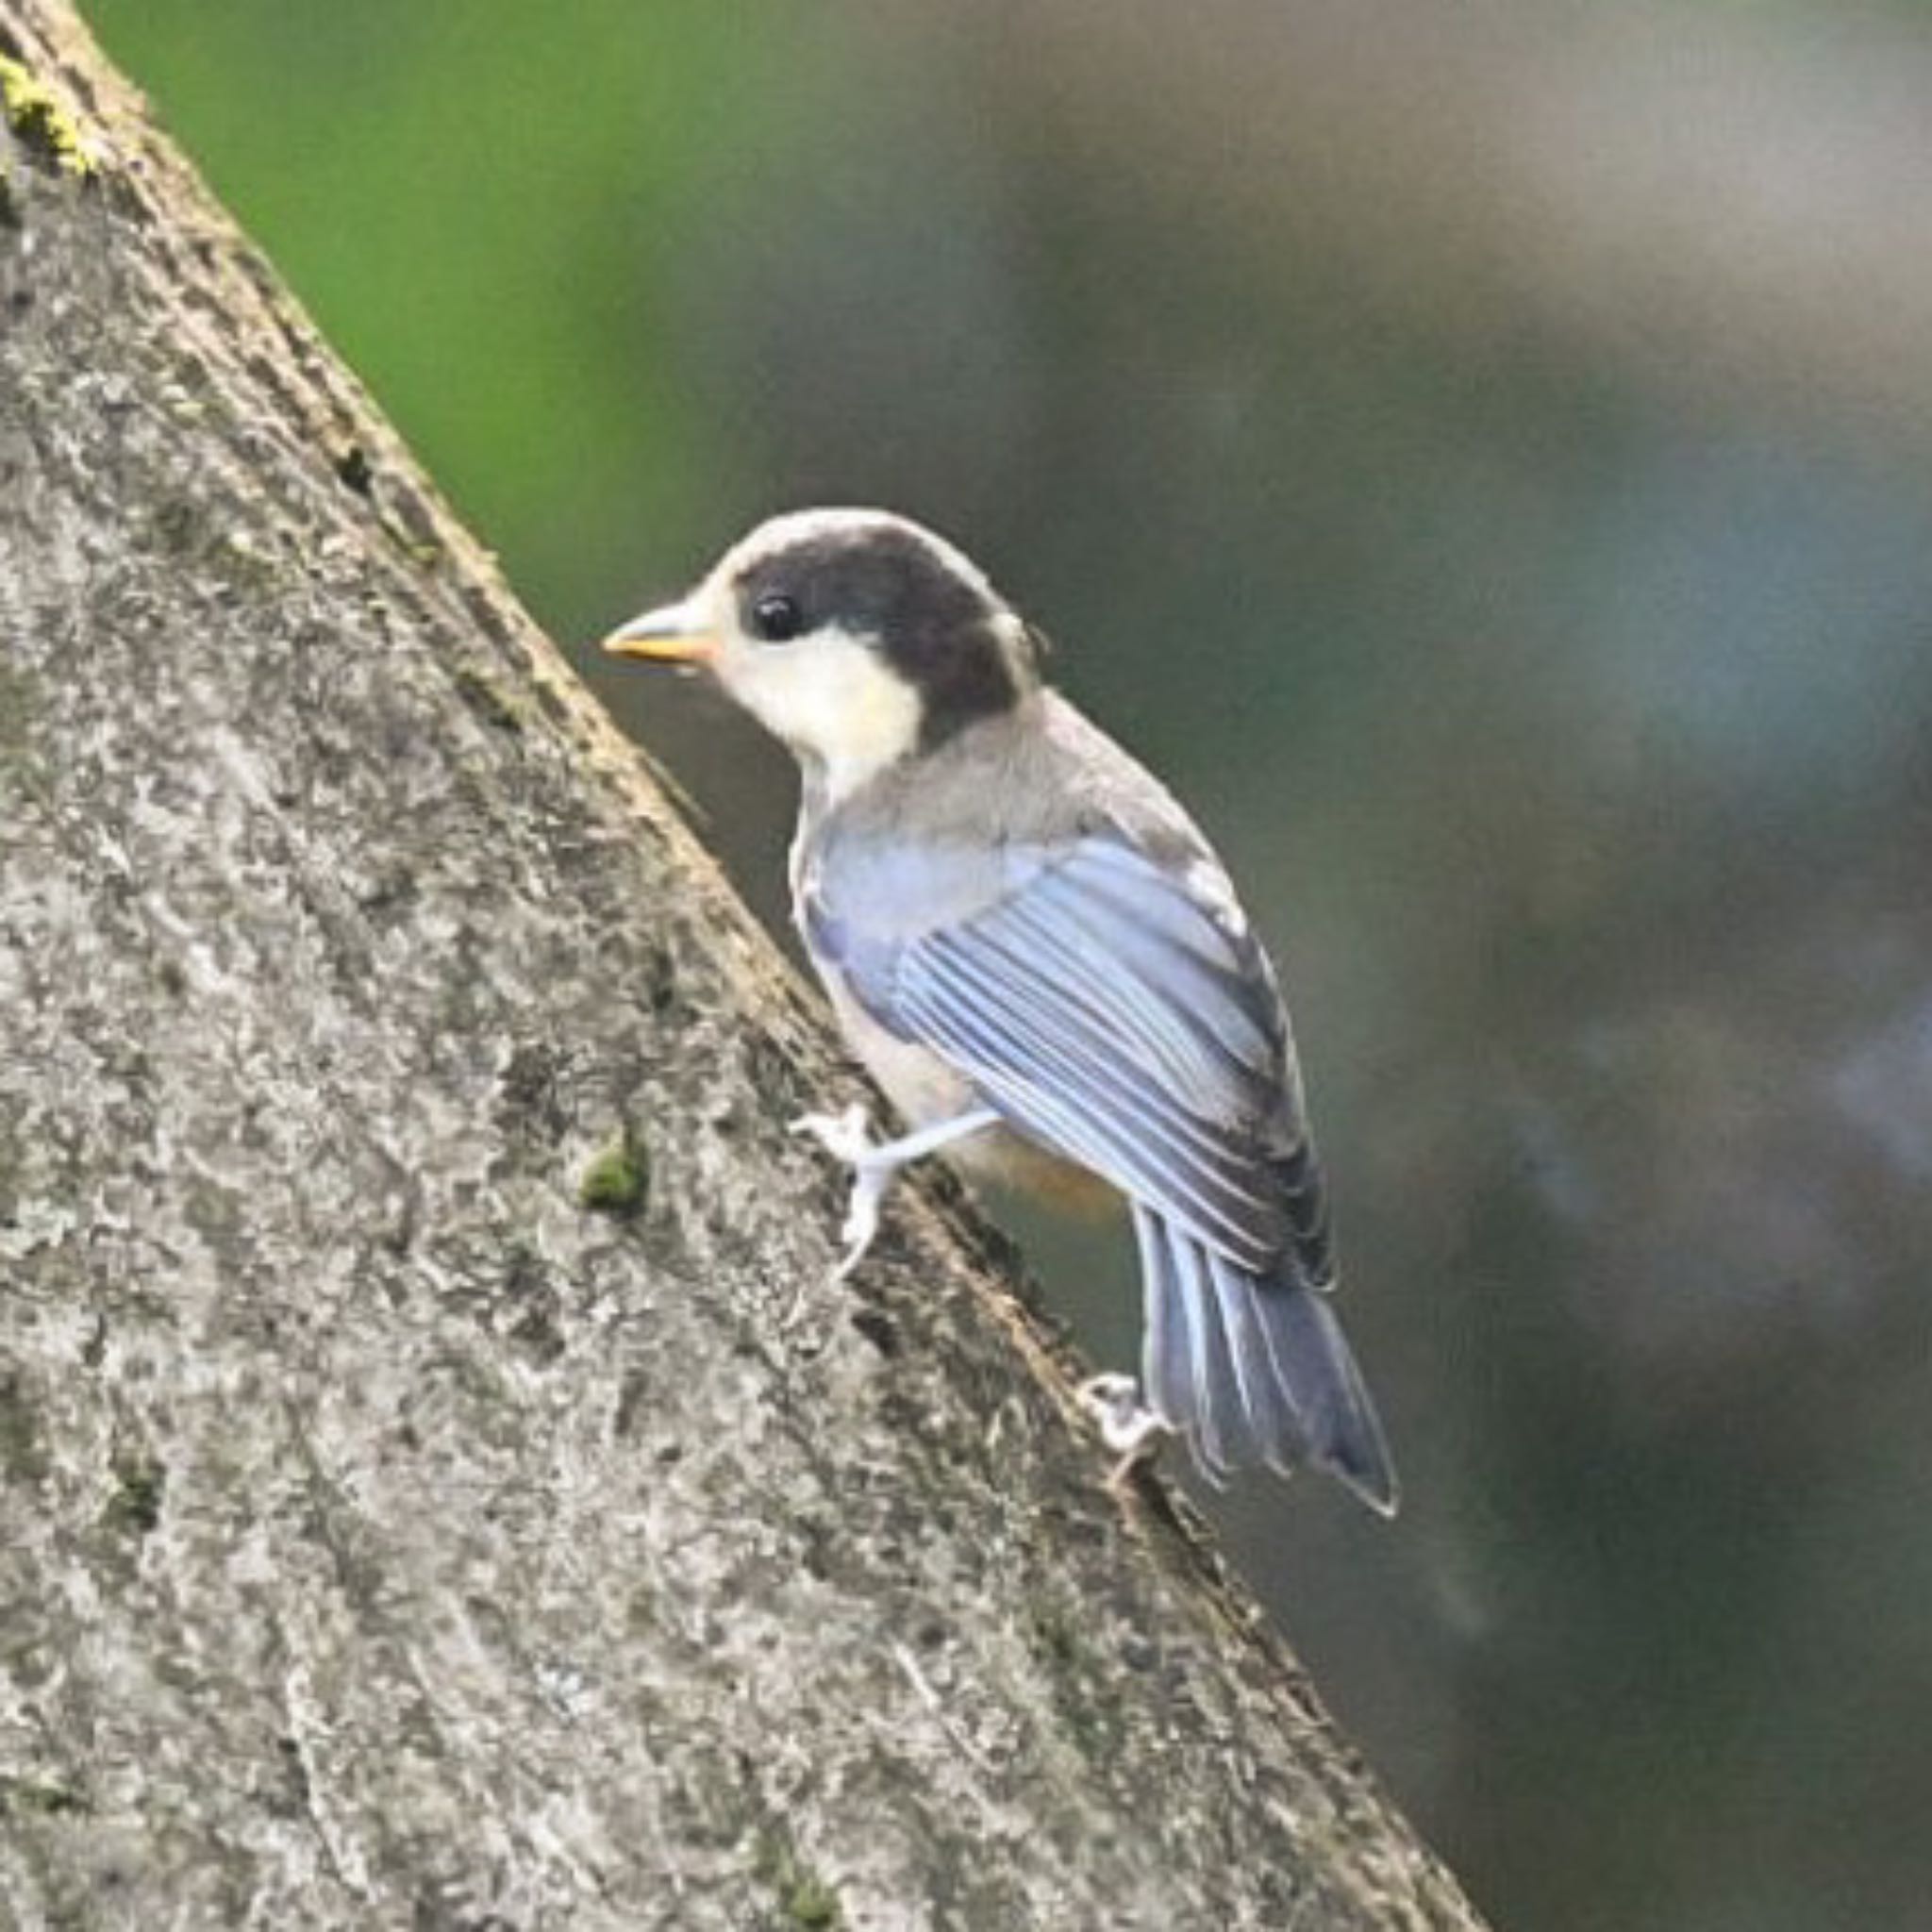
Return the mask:
[(1092, 1385), (1109, 1441), (1165, 1426), (1209, 1474), (1314, 1463), (1393, 1511), (1267, 954), (1180, 806), (1047, 688), (1039, 634), (918, 524), (804, 510), (605, 643), (705, 667), (804, 769), (798, 929), (914, 1126), (802, 1122), (854, 1169), (842, 1267), (941, 1148), (1097, 1182), (1132, 1209), (1146, 1306), (1146, 1406)]

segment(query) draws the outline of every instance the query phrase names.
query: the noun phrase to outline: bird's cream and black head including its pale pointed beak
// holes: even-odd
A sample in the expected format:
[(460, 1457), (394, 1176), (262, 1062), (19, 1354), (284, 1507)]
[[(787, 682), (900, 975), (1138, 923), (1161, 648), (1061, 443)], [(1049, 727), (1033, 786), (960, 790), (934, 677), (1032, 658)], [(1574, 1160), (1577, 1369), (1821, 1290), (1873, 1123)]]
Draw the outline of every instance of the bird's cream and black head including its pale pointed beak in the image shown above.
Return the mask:
[(951, 543), (883, 510), (798, 510), (724, 553), (682, 603), (605, 638), (696, 665), (831, 794), (1010, 711), (1037, 636)]

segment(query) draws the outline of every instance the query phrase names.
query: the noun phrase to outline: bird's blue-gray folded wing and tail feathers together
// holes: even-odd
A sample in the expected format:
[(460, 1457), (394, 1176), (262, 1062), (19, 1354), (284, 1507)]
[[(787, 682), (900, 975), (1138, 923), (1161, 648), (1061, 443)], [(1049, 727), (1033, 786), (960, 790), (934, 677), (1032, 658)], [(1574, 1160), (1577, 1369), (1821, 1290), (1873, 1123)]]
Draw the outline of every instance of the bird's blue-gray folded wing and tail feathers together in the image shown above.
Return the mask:
[(1113, 837), (1010, 854), (1012, 889), (904, 937), (821, 912), (815, 943), (891, 1032), (1134, 1204), (1144, 1385), (1202, 1464), (1393, 1476), (1333, 1277), (1273, 976), (1217, 873)]

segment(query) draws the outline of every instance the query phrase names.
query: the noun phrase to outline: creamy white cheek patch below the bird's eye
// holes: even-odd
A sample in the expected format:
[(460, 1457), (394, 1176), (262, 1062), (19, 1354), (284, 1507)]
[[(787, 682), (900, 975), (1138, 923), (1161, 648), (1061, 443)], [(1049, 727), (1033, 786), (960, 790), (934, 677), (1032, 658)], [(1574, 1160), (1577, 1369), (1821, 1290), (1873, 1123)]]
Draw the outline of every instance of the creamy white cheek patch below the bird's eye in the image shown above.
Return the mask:
[(765, 730), (825, 769), (833, 800), (920, 742), (920, 694), (850, 632), (798, 643), (734, 638), (717, 672)]

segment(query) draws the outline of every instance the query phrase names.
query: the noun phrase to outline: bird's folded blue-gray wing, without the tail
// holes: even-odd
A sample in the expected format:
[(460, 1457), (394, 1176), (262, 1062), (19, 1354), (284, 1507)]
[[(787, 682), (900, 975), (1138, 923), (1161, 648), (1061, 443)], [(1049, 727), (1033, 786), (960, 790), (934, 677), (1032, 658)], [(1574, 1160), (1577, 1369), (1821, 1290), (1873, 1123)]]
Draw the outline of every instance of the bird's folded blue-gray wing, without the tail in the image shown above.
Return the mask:
[(1022, 1132), (1211, 1250), (1325, 1285), (1287, 1018), (1219, 869), (1088, 835), (1009, 852), (1007, 877), (968, 918), (838, 947), (860, 1003)]

